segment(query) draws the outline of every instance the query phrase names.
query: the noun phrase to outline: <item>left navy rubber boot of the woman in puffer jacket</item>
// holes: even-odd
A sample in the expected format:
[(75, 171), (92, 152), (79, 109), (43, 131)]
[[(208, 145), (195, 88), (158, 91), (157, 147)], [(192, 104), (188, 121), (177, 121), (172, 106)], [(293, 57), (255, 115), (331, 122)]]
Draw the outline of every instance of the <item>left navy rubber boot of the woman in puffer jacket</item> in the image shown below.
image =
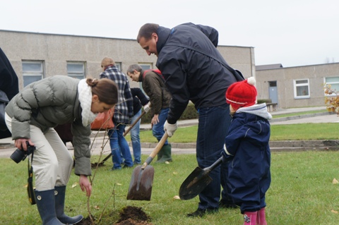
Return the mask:
[(39, 211), (42, 225), (62, 225), (55, 213), (54, 189), (35, 190), (35, 202), (37, 202), (37, 210)]

